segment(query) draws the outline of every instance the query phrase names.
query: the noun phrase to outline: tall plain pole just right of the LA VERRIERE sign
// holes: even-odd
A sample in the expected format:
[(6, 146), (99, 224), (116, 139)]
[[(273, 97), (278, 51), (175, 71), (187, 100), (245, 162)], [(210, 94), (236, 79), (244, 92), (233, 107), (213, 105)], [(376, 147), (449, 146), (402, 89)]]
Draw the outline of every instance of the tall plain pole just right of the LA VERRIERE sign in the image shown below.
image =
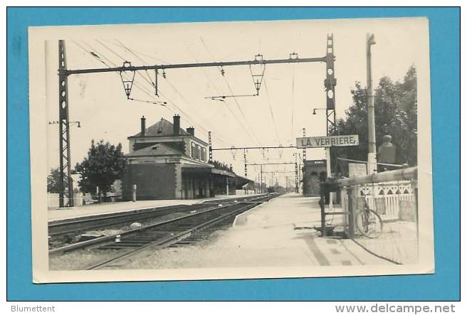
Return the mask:
[(372, 82), (372, 45), (374, 34), (367, 33), (367, 95), (368, 95), (368, 174), (376, 173), (376, 132), (374, 127), (374, 95)]

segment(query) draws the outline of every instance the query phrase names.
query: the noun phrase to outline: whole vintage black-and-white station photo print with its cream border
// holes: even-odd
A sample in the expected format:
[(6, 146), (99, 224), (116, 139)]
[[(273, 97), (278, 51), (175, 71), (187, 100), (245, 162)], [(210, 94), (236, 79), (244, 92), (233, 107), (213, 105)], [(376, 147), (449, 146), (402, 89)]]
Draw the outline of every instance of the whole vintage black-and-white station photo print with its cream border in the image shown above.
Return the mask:
[(434, 272), (426, 18), (28, 33), (34, 282)]

